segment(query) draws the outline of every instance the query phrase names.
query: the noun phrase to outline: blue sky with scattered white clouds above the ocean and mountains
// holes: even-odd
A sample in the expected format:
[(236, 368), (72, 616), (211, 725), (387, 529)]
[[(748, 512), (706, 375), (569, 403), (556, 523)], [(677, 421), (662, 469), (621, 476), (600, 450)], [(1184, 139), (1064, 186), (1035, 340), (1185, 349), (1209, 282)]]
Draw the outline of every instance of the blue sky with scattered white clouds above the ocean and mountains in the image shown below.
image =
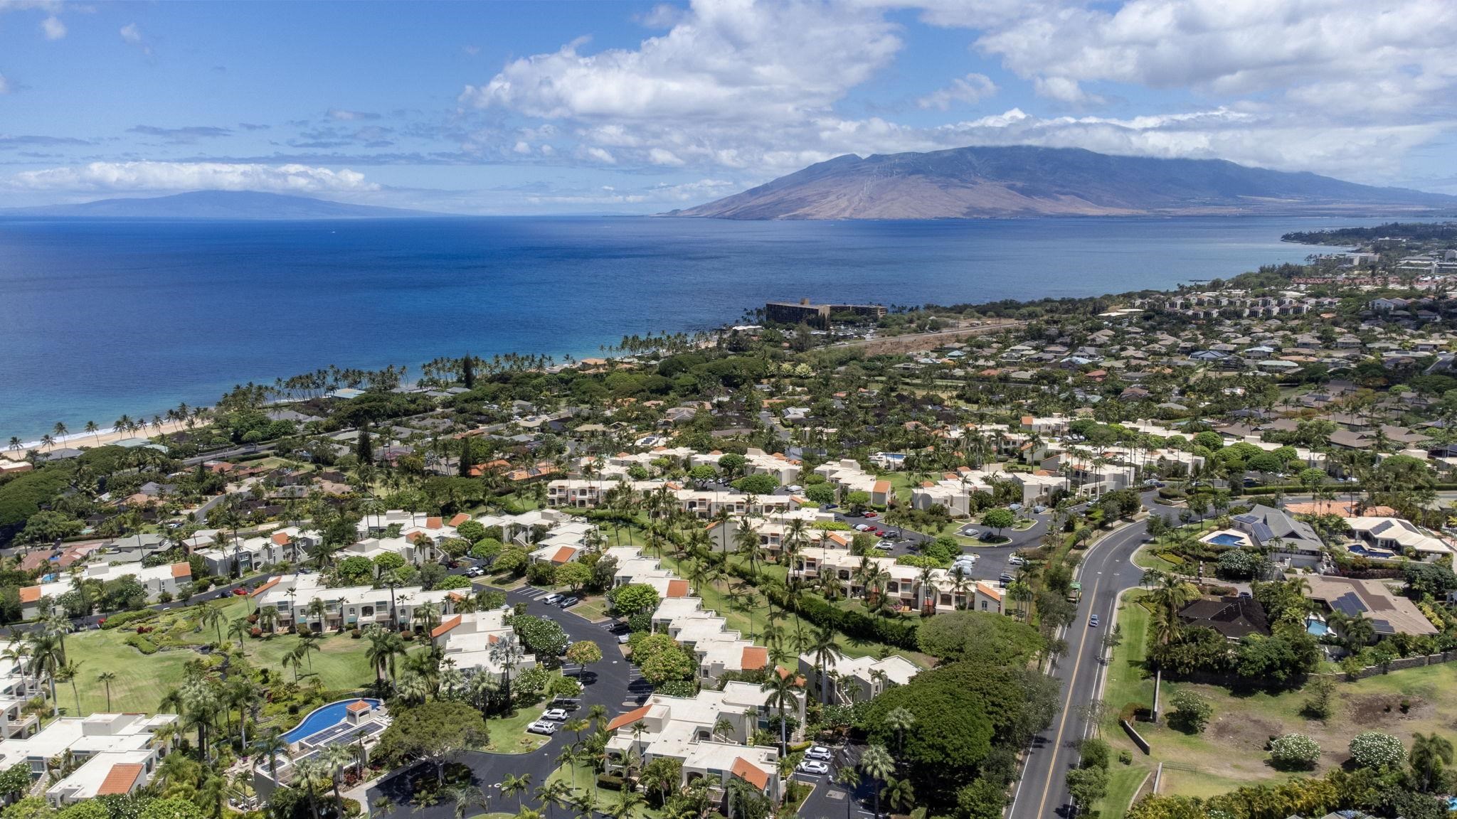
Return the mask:
[(1457, 194), (1454, 44), (1454, 0), (0, 0), (0, 207), (659, 213), (973, 144)]

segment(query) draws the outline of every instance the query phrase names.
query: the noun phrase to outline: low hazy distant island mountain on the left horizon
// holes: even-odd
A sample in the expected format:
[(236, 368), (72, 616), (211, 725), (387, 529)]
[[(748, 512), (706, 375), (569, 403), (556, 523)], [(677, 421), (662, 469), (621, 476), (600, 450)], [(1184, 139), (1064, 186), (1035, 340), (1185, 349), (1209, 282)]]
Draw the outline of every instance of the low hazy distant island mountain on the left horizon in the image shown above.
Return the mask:
[(99, 200), (93, 203), (0, 208), (0, 217), (92, 219), (408, 219), (441, 216), (423, 210), (357, 205), (264, 194), (259, 191), (192, 191), (170, 197)]

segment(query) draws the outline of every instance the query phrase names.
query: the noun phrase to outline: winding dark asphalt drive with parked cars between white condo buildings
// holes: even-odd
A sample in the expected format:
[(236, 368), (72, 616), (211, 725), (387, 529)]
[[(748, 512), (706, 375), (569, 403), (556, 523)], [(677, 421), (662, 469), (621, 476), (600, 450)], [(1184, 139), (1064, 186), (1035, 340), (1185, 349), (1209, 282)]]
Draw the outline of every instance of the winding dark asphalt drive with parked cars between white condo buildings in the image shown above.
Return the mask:
[[(548, 606), (541, 602), (549, 592), (539, 589), (523, 587), (520, 590), (507, 592), (506, 599), (510, 603), (526, 603), (527, 614), (536, 616), (549, 616), (557, 621), (567, 637), (574, 643), (581, 640), (592, 640), (602, 647), (602, 662), (592, 666), (587, 672), (586, 685), (581, 692), (581, 708), (577, 710), (576, 716), (586, 717), (587, 710), (593, 705), (606, 705), (608, 714), (615, 717), (624, 711), (629, 711), (647, 700), (651, 694), (653, 686), (647, 681), (637, 676), (637, 669), (632, 667), (618, 650), (616, 638), (605, 631), (599, 624), (589, 622), (586, 618), (577, 616), (571, 609), (562, 611), (557, 606)], [(517, 797), (504, 797), (500, 791), (501, 780), (507, 774), (530, 777), (530, 791), (535, 791), (546, 777), (557, 769), (557, 755), (561, 753), (562, 748), (571, 743), (574, 734), (571, 732), (557, 732), (546, 745), (530, 752), (530, 753), (484, 753), (484, 752), (468, 752), (462, 753), (456, 761), (465, 764), (471, 768), (474, 784), (481, 788), (488, 799), (488, 812), (506, 812), (516, 813)], [(369, 790), (369, 803), (373, 804), (376, 799), (385, 796), (395, 803), (395, 810), (383, 816), (399, 816), (407, 815), (411, 819), (455, 819), (455, 806), (450, 803), (434, 804), (431, 807), (415, 809), (409, 804), (411, 793), (409, 783), (424, 774), (430, 772), (431, 768), (427, 764), (417, 764), (408, 768), (402, 768), (380, 780), (380, 783)], [(584, 781), (578, 781), (577, 785), (584, 785)], [(536, 799), (532, 793), (522, 794), (523, 804), (536, 804)], [(552, 816), (561, 815), (559, 810), (554, 810)]]

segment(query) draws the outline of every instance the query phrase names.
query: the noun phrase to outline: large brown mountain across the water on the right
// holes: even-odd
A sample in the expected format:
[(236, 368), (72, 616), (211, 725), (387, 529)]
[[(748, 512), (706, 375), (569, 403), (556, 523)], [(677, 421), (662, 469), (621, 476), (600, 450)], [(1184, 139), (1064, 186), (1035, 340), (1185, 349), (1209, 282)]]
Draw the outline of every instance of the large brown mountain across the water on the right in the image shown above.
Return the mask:
[(986, 219), (1429, 208), (1457, 208), (1457, 197), (1246, 168), (1222, 159), (1152, 159), (1011, 146), (864, 159), (839, 156), (742, 194), (666, 216)]

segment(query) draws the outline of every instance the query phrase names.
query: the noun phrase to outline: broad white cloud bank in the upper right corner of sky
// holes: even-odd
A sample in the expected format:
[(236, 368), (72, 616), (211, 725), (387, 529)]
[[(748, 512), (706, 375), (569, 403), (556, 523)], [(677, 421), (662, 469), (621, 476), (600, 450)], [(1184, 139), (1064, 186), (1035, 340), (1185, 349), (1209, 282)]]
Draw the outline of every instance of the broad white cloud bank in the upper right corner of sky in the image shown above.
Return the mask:
[(982, 28), (976, 48), (1058, 99), (1100, 80), (1419, 114), (1457, 89), (1454, 41), (1450, 0), (1129, 0), (1034, 6)]

